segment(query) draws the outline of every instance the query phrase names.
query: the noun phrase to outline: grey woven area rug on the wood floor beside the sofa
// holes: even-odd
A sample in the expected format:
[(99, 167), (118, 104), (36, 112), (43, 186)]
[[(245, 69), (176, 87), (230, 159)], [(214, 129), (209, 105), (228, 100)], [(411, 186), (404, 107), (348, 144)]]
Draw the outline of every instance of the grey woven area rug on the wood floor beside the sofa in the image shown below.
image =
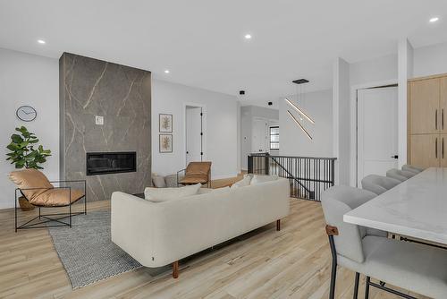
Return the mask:
[[(73, 288), (142, 267), (112, 243), (109, 210), (75, 216), (72, 218), (72, 228), (49, 227), (48, 231)], [(169, 268), (148, 270), (151, 276), (165, 271)]]

